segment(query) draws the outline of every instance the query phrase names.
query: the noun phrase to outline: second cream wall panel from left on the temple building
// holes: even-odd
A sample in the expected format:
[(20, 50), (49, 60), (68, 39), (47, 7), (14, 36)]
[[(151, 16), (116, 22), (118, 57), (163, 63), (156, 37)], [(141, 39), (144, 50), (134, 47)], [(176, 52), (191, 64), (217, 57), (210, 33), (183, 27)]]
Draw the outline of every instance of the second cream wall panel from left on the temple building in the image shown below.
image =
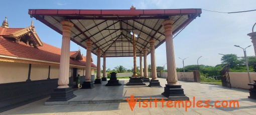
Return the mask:
[(31, 80), (43, 80), (48, 78), (49, 65), (31, 65)]

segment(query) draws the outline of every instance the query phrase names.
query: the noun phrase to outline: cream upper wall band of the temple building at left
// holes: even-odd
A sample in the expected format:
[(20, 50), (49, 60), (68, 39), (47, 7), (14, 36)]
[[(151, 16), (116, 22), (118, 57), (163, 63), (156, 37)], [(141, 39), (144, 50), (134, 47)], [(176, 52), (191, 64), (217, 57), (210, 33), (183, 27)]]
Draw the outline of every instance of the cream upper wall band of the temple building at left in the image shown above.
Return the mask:
[[(85, 68), (77, 68), (80, 76), (85, 75)], [(48, 78), (49, 65), (31, 64), (31, 80), (43, 80)], [(29, 63), (0, 61), (0, 83), (21, 82), (28, 79)], [(91, 75), (94, 68), (91, 68)], [(71, 76), (71, 67), (69, 69)], [(59, 78), (59, 66), (51, 66), (50, 78)]]

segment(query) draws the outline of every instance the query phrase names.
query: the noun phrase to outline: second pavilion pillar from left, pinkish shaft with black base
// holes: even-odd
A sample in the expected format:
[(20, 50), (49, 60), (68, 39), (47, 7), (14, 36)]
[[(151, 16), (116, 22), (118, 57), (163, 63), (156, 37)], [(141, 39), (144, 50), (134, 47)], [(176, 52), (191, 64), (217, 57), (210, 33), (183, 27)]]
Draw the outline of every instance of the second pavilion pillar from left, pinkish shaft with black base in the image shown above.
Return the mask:
[(93, 81), (91, 81), (91, 45), (92, 41), (89, 39), (86, 42), (86, 65), (85, 65), (85, 81), (82, 88), (93, 88)]

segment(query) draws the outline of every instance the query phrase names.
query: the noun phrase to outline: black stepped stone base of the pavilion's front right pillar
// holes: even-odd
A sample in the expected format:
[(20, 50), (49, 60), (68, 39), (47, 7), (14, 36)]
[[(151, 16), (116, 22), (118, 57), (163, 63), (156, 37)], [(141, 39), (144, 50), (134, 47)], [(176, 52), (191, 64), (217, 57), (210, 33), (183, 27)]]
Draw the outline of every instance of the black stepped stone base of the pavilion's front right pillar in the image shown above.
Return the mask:
[(189, 100), (189, 97), (184, 94), (181, 85), (165, 84), (165, 91), (162, 93), (162, 95), (170, 98), (171, 100)]

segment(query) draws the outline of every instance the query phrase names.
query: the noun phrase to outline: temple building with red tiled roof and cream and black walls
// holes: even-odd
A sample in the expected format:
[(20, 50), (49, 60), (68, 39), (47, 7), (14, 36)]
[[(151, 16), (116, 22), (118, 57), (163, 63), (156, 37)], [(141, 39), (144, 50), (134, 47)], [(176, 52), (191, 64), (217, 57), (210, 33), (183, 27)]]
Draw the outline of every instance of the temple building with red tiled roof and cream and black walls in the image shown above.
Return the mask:
[[(61, 49), (42, 42), (33, 21), (26, 28), (10, 28), (6, 17), (0, 27), (0, 109), (49, 96), (58, 86), (60, 57)], [(69, 86), (74, 87), (77, 74), (85, 75), (86, 56), (79, 49), (69, 57)], [(94, 78), (97, 66), (90, 58)]]

